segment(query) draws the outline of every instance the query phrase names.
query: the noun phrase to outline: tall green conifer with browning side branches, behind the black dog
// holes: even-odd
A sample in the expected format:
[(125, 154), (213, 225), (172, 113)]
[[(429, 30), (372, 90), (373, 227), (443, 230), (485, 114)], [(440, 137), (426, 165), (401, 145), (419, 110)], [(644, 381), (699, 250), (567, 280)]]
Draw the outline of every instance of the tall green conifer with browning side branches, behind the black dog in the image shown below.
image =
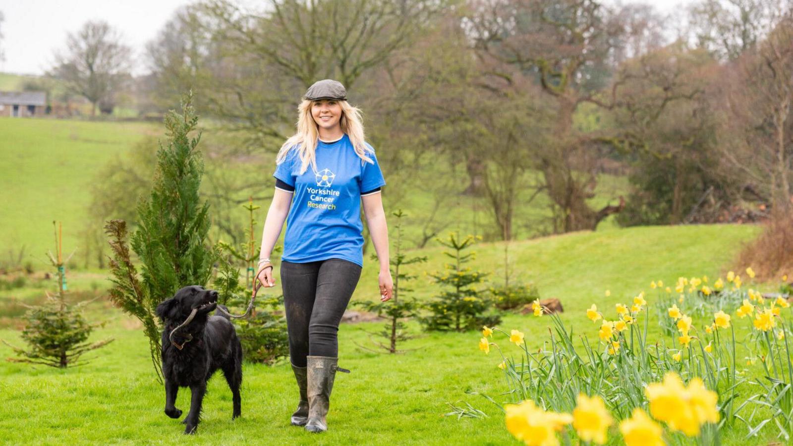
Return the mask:
[(105, 226), (113, 250), (110, 298), (143, 323), (158, 376), (161, 346), (155, 309), (182, 286), (205, 286), (218, 256), (205, 244), (209, 203), (201, 204), (198, 196), (204, 171), (197, 150), (201, 134), (190, 135), (197, 122), (192, 93), (184, 99), (182, 114), (170, 111), (165, 117), (168, 141), (160, 143), (151, 195), (138, 204), (139, 227), (130, 239), (142, 263), (140, 277), (127, 247), (125, 221)]

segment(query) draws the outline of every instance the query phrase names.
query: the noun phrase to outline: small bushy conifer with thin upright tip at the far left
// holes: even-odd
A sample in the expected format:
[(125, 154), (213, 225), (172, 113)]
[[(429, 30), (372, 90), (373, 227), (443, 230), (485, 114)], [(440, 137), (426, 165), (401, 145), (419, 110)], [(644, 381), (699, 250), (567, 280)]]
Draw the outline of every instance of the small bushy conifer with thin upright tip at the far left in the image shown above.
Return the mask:
[[(55, 221), (52, 225), (55, 225)], [(3, 341), (13, 349), (20, 358), (8, 358), (14, 363), (44, 364), (50, 367), (66, 368), (86, 363), (82, 355), (91, 350), (101, 348), (113, 341), (113, 338), (100, 340), (93, 344), (87, 343), (90, 333), (101, 326), (101, 323), (91, 324), (82, 317), (80, 309), (87, 302), (79, 302), (72, 306), (66, 302), (66, 270), (64, 265), (69, 259), (63, 260), (61, 249), (60, 227), (56, 229), (56, 256), (48, 252), (52, 266), (56, 267), (58, 278), (58, 293), (54, 296), (47, 294), (47, 302), (42, 306), (31, 306), (25, 313), (27, 325), (22, 330), (22, 339), (29, 344), (29, 349), (14, 347)], [(69, 256), (71, 258), (71, 256)]]

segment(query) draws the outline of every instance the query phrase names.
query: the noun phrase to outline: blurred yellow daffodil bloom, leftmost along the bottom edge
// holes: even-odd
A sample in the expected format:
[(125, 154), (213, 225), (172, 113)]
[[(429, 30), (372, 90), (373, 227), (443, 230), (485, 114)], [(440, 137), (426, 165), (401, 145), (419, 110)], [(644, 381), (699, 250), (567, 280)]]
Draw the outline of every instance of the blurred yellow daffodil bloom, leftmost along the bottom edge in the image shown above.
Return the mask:
[(554, 446), (559, 444), (556, 433), (573, 422), (569, 413), (546, 412), (531, 400), (518, 405), (504, 406), (507, 430), (524, 444)]

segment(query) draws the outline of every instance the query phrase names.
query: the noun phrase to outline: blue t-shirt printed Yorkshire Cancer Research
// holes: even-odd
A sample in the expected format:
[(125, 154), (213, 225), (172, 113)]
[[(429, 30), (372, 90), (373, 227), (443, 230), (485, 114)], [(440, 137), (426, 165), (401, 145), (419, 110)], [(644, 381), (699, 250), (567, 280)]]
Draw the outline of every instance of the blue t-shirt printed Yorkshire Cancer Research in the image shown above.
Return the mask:
[(282, 260), (343, 259), (363, 267), (361, 194), (385, 186), (374, 152), (366, 156), (374, 164), (361, 160), (347, 134), (331, 143), (317, 140), (317, 171), (308, 164), (300, 175), (300, 156), (289, 150), (273, 174), (294, 187)]

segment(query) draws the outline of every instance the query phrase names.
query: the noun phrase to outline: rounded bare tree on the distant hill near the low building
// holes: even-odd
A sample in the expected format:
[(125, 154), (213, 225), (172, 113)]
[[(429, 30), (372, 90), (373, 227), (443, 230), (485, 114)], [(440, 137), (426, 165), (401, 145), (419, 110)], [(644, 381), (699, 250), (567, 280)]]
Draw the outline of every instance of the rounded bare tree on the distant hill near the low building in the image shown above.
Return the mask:
[(121, 43), (121, 35), (105, 21), (87, 21), (77, 33), (69, 33), (66, 49), (56, 52), (50, 75), (63, 80), (66, 89), (97, 106), (109, 101), (128, 79), (132, 50)]

